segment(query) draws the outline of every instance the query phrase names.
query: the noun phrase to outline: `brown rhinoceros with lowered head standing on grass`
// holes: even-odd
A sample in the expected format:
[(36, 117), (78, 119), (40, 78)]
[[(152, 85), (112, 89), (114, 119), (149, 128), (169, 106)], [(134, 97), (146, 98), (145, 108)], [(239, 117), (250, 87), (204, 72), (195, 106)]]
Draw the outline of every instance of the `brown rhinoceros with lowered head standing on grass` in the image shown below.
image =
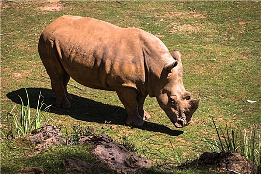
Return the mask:
[(177, 128), (188, 125), (199, 106), (200, 98), (191, 98), (183, 86), (180, 52), (171, 54), (159, 38), (142, 29), (65, 15), (42, 32), (38, 51), (57, 107), (71, 106), (70, 77), (86, 87), (116, 91), (130, 126), (140, 127), (150, 118), (143, 108), (148, 95), (157, 98)]

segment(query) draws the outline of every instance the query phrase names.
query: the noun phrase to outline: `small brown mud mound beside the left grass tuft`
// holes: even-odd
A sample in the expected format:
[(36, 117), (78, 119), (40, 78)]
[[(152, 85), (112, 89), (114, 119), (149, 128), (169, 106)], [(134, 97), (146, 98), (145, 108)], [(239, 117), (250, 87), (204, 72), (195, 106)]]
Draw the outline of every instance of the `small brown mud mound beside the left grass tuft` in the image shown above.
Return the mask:
[(57, 126), (46, 124), (39, 129), (32, 131), (29, 135), (29, 142), (33, 142), (35, 149), (42, 150), (49, 146), (66, 145), (66, 141), (61, 137)]

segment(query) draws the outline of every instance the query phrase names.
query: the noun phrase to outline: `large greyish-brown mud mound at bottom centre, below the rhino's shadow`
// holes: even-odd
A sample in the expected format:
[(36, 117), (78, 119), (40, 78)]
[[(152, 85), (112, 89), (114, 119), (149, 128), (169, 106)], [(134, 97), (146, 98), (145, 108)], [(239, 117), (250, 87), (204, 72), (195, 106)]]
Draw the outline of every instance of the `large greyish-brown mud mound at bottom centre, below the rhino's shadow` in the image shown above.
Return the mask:
[(107, 135), (88, 136), (80, 140), (80, 144), (85, 143), (93, 144), (93, 156), (117, 173), (130, 174), (151, 167), (150, 160), (137, 157)]

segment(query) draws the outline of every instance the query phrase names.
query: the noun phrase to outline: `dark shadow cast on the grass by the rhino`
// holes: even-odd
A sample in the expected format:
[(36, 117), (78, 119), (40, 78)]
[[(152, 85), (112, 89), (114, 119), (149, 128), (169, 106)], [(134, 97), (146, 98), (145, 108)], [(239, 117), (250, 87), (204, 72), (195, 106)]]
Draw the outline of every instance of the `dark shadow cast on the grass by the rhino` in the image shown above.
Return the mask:
[[(51, 89), (29, 87), (26, 88), (26, 90), (28, 92), (29, 104), (31, 108), (37, 108), (40, 91), (42, 95), (42, 97), (40, 98), (40, 102), (43, 102), (46, 105), (50, 105), (55, 102), (55, 93)], [(110, 104), (104, 104), (74, 94), (71, 95), (73, 97), (73, 100), (71, 101), (71, 108), (56, 108), (55, 106), (52, 106), (50, 108), (50, 112), (58, 115), (69, 115), (75, 119), (87, 122), (125, 125), (127, 112), (124, 108), (113, 106)], [(28, 104), (24, 88), (9, 92), (6, 94), (6, 96), (13, 102), (20, 105), (21, 97), (24, 105)], [(42, 109), (44, 109), (44, 107)], [(146, 121), (145, 124), (139, 129), (152, 132), (161, 132), (164, 134), (169, 134), (171, 136), (178, 136), (183, 133), (183, 131), (173, 130), (167, 126), (152, 123), (149, 121)]]

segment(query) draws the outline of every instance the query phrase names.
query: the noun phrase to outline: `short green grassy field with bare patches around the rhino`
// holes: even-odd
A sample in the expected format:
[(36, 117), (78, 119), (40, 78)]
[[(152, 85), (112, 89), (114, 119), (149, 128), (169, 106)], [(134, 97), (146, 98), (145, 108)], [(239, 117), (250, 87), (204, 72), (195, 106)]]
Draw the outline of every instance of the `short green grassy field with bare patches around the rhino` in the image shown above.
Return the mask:
[[(72, 131), (74, 123), (104, 132), (117, 141), (127, 137), (137, 154), (155, 166), (178, 165), (209, 151), (201, 140), (217, 138), (212, 123), (224, 128), (261, 130), (261, 1), (1, 1), (1, 131), (7, 133), (8, 112), (20, 109), (27, 89), (32, 112), (38, 94), (52, 104), (55, 95), (38, 55), (38, 39), (44, 28), (62, 15), (104, 20), (120, 27), (137, 27), (180, 50), (183, 83), (201, 104), (193, 122), (174, 128), (158, 105), (147, 98), (152, 118), (142, 128), (125, 125), (124, 106), (115, 92), (81, 86), (70, 80), (70, 109), (51, 108), (52, 124)], [(18, 96), (19, 95), (19, 96)], [(249, 103), (247, 100), (255, 100)], [(62, 129), (65, 133), (65, 128)], [(61, 161), (69, 156), (93, 162), (89, 147), (52, 147), (32, 155), (23, 139), (1, 141), (1, 172), (11, 174), (24, 166), (43, 166), (46, 173), (65, 173)], [(16, 147), (16, 148), (10, 148)], [(172, 148), (173, 147), (173, 148)], [(145, 171), (146, 172), (146, 171)], [(150, 173), (150, 171), (147, 171)], [(154, 171), (155, 173), (171, 173)], [(175, 173), (209, 173), (189, 169)], [(104, 171), (107, 173), (107, 171)]]

